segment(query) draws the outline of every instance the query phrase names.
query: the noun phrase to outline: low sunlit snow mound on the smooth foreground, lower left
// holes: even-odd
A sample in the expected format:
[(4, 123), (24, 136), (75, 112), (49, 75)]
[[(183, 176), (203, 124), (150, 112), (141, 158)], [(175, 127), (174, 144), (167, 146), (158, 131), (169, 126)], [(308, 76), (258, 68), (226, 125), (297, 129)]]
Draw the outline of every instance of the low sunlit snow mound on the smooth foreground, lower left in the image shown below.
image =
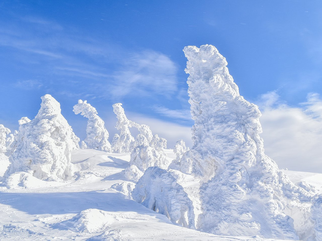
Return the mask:
[(97, 233), (104, 231), (106, 227), (116, 221), (117, 217), (115, 214), (90, 208), (81, 211), (69, 220), (60, 222), (58, 226), (77, 233)]

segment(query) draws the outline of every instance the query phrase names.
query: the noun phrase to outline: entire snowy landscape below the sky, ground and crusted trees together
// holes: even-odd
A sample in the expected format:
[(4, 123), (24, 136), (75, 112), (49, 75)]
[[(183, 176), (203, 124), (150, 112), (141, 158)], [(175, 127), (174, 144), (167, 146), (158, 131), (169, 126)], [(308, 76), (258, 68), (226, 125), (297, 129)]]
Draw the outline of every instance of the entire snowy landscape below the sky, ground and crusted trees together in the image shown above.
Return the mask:
[(49, 94), (18, 131), (0, 125), (0, 240), (322, 240), (322, 174), (278, 169), (225, 58), (212, 45), (184, 52), (191, 149), (166, 149), (121, 103), (109, 142), (96, 109), (78, 101), (81, 148)]

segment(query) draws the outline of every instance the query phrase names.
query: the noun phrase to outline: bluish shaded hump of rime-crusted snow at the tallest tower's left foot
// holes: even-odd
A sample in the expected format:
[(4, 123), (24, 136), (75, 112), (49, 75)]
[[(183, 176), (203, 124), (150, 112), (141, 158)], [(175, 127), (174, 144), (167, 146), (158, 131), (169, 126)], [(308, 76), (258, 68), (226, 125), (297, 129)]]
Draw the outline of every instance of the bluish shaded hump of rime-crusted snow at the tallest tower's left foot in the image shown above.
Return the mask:
[(133, 200), (166, 215), (173, 223), (194, 228), (194, 207), (170, 172), (148, 168), (132, 191)]

